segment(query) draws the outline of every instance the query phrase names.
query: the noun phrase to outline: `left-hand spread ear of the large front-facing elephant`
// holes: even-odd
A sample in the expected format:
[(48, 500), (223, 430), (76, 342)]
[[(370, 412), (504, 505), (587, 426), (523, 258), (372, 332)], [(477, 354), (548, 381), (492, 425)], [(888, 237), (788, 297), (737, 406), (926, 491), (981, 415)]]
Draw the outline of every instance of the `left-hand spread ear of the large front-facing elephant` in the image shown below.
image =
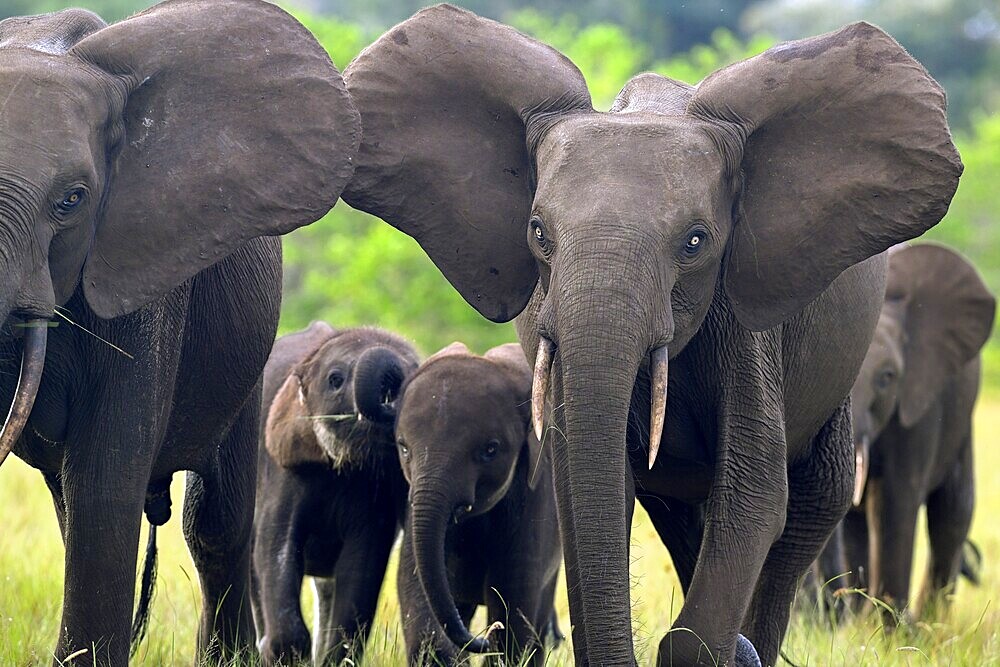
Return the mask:
[(438, 5), (384, 34), (344, 76), (364, 126), (344, 200), (414, 237), (487, 318), (517, 315), (538, 277), (526, 123), (592, 110), (579, 70), (513, 28)]

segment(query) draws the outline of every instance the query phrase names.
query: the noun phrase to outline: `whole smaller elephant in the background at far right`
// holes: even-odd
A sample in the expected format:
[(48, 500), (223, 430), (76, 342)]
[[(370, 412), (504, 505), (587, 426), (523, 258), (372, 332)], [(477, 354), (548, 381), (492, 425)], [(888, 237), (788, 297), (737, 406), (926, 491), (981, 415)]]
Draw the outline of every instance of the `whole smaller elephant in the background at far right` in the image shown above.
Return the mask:
[(972, 409), (995, 309), (975, 268), (953, 250), (921, 243), (890, 253), (885, 305), (851, 390), (858, 507), (843, 523), (846, 562), (835, 572), (827, 566), (824, 580), (863, 573), (851, 583), (906, 609), (923, 505), (923, 603), (950, 591), (960, 571), (974, 578), (964, 549), (975, 497)]

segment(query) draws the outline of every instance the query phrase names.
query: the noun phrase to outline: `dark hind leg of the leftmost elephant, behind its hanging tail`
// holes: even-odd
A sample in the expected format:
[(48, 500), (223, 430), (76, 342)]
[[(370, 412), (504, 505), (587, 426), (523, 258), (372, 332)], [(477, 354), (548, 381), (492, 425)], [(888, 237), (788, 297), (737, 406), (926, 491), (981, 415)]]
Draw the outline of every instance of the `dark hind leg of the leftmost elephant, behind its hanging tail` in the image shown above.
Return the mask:
[(198, 651), (213, 658), (253, 649), (250, 536), (257, 475), (260, 383), (218, 447), (211, 474), (189, 473), (184, 537), (201, 580)]

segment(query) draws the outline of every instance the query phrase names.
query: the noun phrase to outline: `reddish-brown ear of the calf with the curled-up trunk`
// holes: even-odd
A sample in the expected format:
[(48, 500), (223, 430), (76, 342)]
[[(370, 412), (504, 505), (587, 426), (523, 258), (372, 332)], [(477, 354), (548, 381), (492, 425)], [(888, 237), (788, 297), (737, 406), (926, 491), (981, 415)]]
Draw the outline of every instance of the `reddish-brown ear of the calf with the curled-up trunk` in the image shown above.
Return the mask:
[(308, 417), (302, 379), (291, 373), (275, 394), (264, 426), (264, 447), (281, 467), (327, 463)]

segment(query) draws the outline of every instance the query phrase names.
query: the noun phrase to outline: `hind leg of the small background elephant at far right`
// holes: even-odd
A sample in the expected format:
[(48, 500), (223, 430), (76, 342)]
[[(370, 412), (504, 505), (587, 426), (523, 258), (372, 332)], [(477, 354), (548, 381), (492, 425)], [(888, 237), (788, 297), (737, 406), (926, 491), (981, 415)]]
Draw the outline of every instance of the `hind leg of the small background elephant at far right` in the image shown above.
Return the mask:
[(971, 442), (944, 483), (927, 498), (930, 563), (921, 593), (921, 613), (946, 604), (962, 568), (963, 549), (972, 525), (975, 479)]

